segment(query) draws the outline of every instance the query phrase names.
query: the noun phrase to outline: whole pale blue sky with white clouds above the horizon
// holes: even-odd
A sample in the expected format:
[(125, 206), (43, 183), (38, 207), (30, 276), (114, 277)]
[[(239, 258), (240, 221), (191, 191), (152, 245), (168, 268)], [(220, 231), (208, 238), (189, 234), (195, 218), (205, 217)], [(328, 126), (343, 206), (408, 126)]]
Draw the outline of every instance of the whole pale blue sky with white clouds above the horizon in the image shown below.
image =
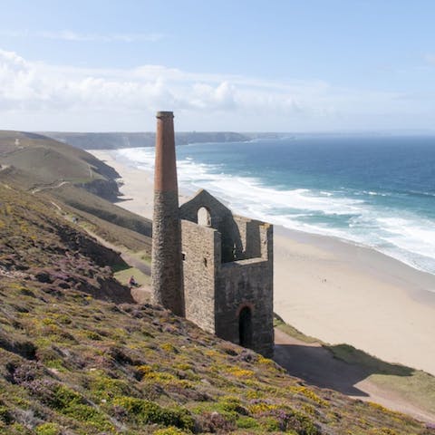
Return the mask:
[(0, 0), (2, 129), (435, 131), (435, 2)]

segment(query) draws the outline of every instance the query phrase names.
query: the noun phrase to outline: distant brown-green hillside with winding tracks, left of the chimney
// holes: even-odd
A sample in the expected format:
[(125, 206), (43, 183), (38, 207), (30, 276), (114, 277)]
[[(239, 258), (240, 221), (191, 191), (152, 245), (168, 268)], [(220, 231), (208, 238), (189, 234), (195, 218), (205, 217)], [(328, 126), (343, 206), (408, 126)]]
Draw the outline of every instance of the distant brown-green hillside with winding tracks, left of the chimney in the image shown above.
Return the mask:
[(150, 220), (107, 200), (119, 200), (119, 174), (88, 152), (34, 133), (0, 131), (0, 165), (0, 181), (50, 199), (94, 233), (150, 256)]

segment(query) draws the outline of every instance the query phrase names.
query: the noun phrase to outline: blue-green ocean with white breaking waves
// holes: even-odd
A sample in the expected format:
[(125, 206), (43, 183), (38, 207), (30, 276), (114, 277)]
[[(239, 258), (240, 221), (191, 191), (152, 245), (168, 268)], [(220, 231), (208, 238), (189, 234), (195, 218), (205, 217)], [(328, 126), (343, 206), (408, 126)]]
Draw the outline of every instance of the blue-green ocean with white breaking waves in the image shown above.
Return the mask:
[[(116, 151), (152, 170), (153, 148)], [(372, 247), (435, 274), (435, 136), (296, 135), (177, 147), (179, 187), (235, 213)]]

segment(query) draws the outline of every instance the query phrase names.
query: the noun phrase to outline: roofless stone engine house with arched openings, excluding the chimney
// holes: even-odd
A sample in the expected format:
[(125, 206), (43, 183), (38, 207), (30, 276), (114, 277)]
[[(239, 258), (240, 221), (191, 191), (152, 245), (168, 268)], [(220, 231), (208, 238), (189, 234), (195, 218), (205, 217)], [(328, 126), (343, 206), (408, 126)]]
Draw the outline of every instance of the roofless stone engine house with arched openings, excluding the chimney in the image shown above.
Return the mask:
[[(208, 210), (208, 226), (197, 224), (200, 208)], [(206, 190), (180, 207), (180, 218), (186, 317), (240, 343), (240, 313), (247, 307), (249, 343), (244, 344), (272, 356), (273, 227), (233, 216)]]

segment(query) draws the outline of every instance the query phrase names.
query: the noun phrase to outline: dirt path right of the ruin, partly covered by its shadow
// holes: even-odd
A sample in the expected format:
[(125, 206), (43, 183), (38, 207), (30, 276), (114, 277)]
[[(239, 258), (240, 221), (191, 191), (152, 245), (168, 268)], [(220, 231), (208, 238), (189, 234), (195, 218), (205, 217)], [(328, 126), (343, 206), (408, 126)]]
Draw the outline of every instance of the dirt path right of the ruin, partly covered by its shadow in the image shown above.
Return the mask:
[(420, 409), (399, 393), (381, 388), (368, 380), (370, 372), (333, 358), (320, 343), (304, 343), (275, 329), (275, 362), (304, 382), (343, 392), (354, 399), (373, 401), (393, 411), (435, 423), (435, 415)]

